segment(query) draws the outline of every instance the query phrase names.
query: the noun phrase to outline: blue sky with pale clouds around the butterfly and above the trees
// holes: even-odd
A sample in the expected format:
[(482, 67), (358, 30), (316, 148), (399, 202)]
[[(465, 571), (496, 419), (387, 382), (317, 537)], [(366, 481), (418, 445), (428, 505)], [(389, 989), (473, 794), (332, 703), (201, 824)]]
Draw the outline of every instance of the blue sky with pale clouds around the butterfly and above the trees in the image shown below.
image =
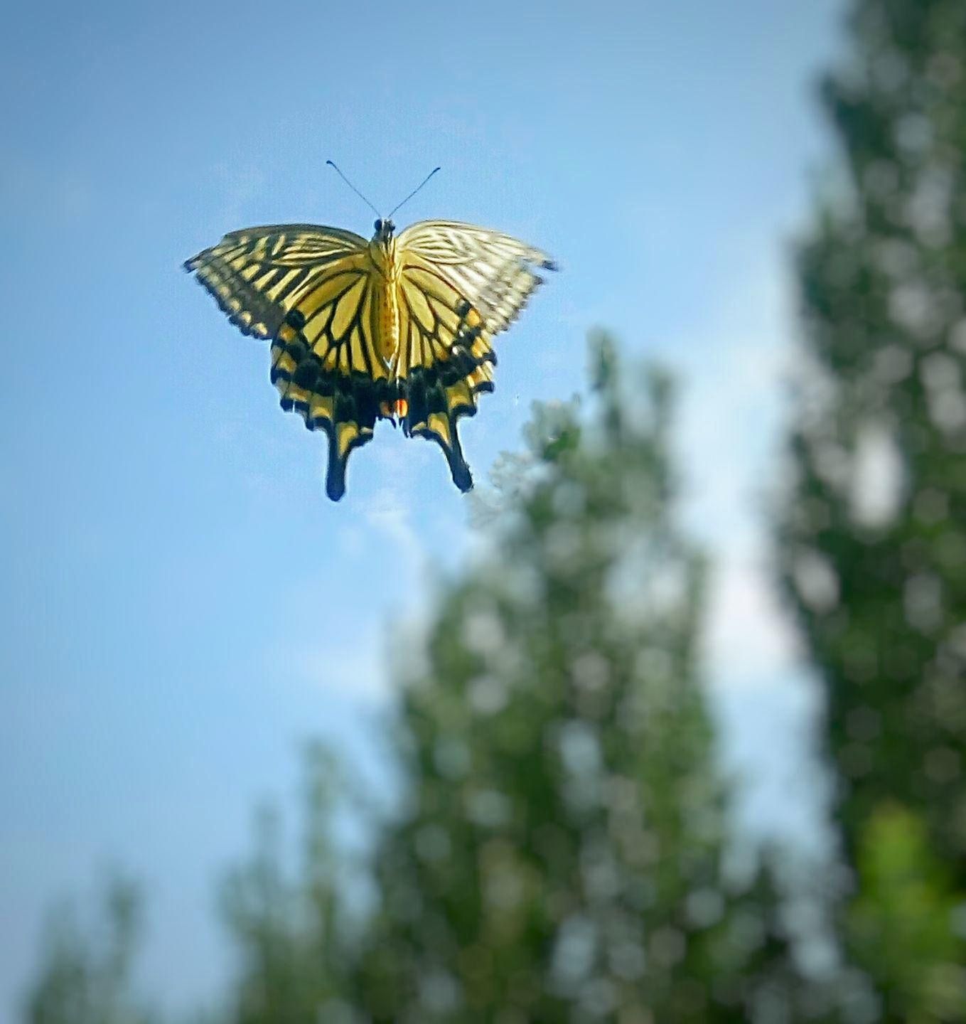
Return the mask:
[(107, 862), (147, 887), (146, 986), (175, 1007), (214, 992), (213, 885), (253, 807), (291, 797), (308, 736), (372, 760), (388, 626), (469, 557), (438, 450), (388, 425), (331, 504), (322, 439), (277, 409), (265, 346), (179, 269), (250, 224), (367, 233), (330, 158), (382, 208), (440, 164), (397, 221), (486, 224), (563, 266), (464, 425), (479, 482), (531, 400), (582, 388), (589, 327), (685, 375), (688, 517), (719, 557), (709, 676), (758, 776), (748, 806), (794, 826), (777, 795), (813, 701), (759, 523), (840, 6), (7, 12), (0, 1021), (43, 907)]

